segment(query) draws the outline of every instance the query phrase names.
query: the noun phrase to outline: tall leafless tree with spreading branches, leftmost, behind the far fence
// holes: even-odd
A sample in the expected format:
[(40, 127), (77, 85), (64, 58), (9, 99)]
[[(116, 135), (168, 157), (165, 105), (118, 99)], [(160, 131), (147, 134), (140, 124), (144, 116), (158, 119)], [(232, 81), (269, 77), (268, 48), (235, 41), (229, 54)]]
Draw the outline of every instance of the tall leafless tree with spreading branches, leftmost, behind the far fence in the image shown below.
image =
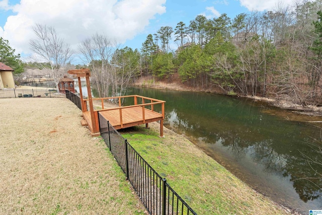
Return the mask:
[(70, 62), (73, 52), (69, 45), (57, 36), (53, 27), (36, 24), (33, 31), (36, 34), (36, 39), (30, 40), (29, 45), (31, 50), (35, 52), (35, 60), (37, 62), (49, 62), (50, 76), (58, 87), (58, 82), (66, 71), (61, 68)]

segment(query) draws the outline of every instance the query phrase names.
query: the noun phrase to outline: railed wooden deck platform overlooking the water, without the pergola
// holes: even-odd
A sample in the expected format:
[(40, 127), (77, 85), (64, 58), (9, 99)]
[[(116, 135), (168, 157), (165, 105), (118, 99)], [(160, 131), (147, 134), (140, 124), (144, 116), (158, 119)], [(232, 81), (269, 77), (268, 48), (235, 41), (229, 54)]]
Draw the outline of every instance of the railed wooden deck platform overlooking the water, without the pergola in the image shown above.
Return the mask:
[[(94, 125), (92, 122), (92, 117), (91, 117), (91, 112), (90, 111), (85, 111), (83, 112), (84, 119), (88, 122), (88, 126), (93, 132), (93, 126), (96, 126), (97, 128), (99, 127), (99, 120), (98, 116), (99, 113), (107, 119), (110, 124), (115, 128), (115, 129), (121, 129), (121, 128), (127, 128), (127, 127), (132, 127), (140, 124), (146, 124), (150, 122), (155, 122), (155, 121), (160, 121), (160, 136), (163, 136), (163, 120), (164, 120), (164, 104), (165, 101), (161, 100), (156, 100), (156, 99), (151, 99), (147, 97), (141, 97), (138, 95), (134, 96), (124, 96), (124, 97), (133, 97), (134, 98), (134, 104), (131, 106), (124, 106), (122, 107), (121, 104), (119, 103), (119, 107), (115, 108), (109, 108), (109, 109), (104, 109), (104, 104), (103, 100), (105, 99), (110, 99), (110, 98), (99, 98), (96, 100), (102, 100), (102, 110), (94, 110)], [(116, 98), (116, 97), (113, 97)], [(118, 97), (119, 101), (120, 98)], [(137, 98), (141, 98), (141, 104), (138, 104)], [(144, 102), (145, 100), (150, 101), (149, 103)], [(154, 111), (153, 107), (154, 105), (162, 105), (162, 113), (158, 113)], [(86, 105), (84, 105), (86, 107)], [(145, 107), (149, 107), (145, 108)]]

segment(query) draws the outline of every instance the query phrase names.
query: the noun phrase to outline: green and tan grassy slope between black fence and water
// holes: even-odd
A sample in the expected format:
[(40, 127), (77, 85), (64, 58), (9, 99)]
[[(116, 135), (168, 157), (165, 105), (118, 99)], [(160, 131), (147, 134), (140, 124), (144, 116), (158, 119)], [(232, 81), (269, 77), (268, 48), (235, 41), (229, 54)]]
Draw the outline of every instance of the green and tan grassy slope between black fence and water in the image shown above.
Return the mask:
[(121, 131), (138, 153), (198, 214), (287, 214), (238, 180), (189, 140), (158, 124)]

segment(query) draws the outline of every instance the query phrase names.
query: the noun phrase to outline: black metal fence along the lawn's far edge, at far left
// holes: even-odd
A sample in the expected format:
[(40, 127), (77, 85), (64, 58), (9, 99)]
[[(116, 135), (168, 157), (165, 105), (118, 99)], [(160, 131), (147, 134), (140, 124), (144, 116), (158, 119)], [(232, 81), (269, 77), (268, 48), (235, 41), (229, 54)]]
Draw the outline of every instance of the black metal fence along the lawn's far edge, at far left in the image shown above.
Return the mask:
[(0, 98), (30, 98), (30, 97), (47, 97), (47, 98), (65, 98), (65, 94), (56, 90), (39, 90), (39, 89), (0, 89)]

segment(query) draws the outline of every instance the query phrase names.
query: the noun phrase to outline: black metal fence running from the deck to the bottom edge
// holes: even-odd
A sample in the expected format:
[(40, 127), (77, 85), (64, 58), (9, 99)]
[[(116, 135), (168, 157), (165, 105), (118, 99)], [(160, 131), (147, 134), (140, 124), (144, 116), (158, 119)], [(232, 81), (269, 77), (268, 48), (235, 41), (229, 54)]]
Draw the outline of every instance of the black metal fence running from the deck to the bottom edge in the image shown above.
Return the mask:
[(149, 214), (197, 214), (99, 113), (100, 132)]

